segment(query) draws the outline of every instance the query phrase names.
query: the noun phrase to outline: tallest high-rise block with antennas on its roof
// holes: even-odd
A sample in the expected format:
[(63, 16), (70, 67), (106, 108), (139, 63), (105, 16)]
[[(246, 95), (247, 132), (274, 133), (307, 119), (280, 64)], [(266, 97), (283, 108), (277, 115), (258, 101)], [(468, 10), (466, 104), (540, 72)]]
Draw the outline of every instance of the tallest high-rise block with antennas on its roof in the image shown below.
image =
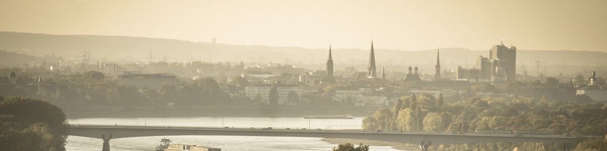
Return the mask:
[[(510, 46), (510, 48), (504, 46), (504, 42), (501, 45), (494, 45), (489, 51), (489, 60), (492, 62), (493, 70), (501, 67), (506, 72), (508, 81), (515, 80), (517, 74), (517, 48)], [(497, 63), (496, 60), (499, 62)]]

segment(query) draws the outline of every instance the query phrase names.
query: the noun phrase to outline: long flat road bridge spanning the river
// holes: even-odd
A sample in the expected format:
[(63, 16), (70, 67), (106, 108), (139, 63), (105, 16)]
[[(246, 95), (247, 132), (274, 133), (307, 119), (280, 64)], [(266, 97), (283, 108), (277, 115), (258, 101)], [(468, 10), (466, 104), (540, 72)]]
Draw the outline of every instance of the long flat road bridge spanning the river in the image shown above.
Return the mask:
[[(70, 125), (69, 135), (103, 139), (103, 151), (109, 151), (109, 141), (127, 137), (152, 137), (171, 135), (222, 135), (263, 137), (314, 137), (348, 138), (358, 140), (391, 141), (417, 144), (421, 150), (429, 146), (461, 143), (568, 143), (577, 144), (581, 138), (563, 135), (515, 135), (503, 133), (435, 133), (435, 132), (364, 132), (361, 130), (322, 129), (260, 129), (187, 126), (135, 126), (135, 125)], [(569, 146), (573, 147), (573, 146)]]

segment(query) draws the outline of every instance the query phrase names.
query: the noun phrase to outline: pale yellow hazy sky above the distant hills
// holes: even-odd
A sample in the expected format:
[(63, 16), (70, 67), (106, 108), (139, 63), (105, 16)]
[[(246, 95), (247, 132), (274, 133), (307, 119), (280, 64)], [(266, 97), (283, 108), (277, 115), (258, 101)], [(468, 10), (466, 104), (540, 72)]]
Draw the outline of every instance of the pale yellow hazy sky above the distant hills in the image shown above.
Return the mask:
[(0, 1), (0, 31), (305, 48), (607, 51), (607, 1)]

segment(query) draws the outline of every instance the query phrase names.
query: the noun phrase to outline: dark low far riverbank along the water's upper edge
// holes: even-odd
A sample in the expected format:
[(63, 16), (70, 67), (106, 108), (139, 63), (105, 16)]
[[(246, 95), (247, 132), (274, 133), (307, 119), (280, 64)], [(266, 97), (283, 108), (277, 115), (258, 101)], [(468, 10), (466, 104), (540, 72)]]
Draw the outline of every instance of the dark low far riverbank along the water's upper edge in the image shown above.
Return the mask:
[(65, 110), (68, 118), (102, 117), (304, 117), (309, 115), (352, 115), (367, 117), (378, 108), (305, 109), (285, 107), (274, 110), (223, 106), (132, 107), (94, 106)]

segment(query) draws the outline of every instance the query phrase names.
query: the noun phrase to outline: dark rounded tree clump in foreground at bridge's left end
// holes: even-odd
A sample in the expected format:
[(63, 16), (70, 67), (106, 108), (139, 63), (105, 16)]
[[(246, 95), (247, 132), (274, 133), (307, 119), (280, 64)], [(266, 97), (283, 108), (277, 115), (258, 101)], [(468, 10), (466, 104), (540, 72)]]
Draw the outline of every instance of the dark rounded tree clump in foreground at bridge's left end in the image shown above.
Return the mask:
[(0, 97), (0, 150), (66, 150), (66, 116), (46, 101)]

